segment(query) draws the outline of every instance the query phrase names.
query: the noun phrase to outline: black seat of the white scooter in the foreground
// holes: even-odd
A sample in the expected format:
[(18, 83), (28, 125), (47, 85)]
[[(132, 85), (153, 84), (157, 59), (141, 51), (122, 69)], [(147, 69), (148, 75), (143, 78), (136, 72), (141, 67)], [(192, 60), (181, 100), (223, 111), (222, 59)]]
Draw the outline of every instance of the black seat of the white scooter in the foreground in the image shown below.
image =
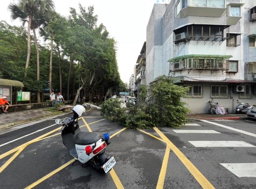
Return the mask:
[(80, 132), (76, 135), (74, 143), (79, 145), (88, 145), (96, 142), (100, 138), (101, 137), (96, 132)]

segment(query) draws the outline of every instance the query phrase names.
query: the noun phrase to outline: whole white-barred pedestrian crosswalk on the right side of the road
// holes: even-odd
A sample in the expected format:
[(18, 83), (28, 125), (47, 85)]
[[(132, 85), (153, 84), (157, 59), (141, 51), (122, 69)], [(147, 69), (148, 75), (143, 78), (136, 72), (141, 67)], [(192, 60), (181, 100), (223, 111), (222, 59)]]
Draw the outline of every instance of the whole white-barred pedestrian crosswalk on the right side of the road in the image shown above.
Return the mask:
[[(196, 123), (187, 123), (185, 126), (201, 126)], [(232, 129), (231, 129), (232, 130)], [(233, 129), (235, 130), (235, 129)], [(210, 129), (193, 129), (193, 127), (190, 127), (188, 129), (172, 129), (172, 131), (179, 136), (182, 136), (182, 134), (186, 134), (188, 136), (189, 134), (198, 134), (198, 136), (201, 136), (200, 134), (221, 134), (219, 131), (210, 130)], [(197, 136), (197, 135), (196, 135)], [(196, 148), (227, 148), (227, 147), (233, 147), (233, 148), (254, 148), (256, 146), (244, 142), (244, 141), (232, 141), (232, 140), (188, 140), (190, 144), (195, 146)], [(247, 161), (245, 159), (245, 161)], [(256, 162), (237, 162), (237, 163), (229, 163), (229, 162), (221, 162), (220, 163), (223, 167), (225, 167), (228, 171), (236, 175), (237, 177), (256, 177)]]

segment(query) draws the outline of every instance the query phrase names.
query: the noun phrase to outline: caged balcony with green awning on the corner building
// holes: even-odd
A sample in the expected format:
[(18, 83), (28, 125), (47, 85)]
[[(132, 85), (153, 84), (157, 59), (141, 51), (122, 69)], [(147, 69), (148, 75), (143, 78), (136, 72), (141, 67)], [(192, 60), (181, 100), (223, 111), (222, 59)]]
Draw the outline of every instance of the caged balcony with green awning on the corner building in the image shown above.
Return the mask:
[[(170, 72), (182, 70), (211, 70), (211, 74), (215, 71), (229, 70), (229, 61), (231, 55), (183, 55), (168, 60), (170, 62)], [(201, 73), (200, 72), (200, 73)]]

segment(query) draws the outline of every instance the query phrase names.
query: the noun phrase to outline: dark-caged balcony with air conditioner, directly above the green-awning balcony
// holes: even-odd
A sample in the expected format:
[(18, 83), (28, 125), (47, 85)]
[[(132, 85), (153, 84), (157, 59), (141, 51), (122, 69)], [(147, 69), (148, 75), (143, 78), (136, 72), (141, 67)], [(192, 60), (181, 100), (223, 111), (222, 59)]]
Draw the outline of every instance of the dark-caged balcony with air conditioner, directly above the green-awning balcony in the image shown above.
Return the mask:
[(189, 24), (178, 29), (173, 30), (173, 42), (178, 44), (187, 41), (219, 41), (223, 42), (229, 37), (230, 25), (200, 25)]

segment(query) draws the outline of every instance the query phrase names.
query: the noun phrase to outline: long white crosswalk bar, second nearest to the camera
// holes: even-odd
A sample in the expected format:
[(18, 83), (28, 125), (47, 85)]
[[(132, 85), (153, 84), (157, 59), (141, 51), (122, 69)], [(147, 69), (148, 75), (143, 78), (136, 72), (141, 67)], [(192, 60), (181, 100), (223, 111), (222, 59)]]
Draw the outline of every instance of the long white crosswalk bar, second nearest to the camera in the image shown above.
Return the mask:
[(256, 147), (244, 141), (188, 141), (195, 147)]

